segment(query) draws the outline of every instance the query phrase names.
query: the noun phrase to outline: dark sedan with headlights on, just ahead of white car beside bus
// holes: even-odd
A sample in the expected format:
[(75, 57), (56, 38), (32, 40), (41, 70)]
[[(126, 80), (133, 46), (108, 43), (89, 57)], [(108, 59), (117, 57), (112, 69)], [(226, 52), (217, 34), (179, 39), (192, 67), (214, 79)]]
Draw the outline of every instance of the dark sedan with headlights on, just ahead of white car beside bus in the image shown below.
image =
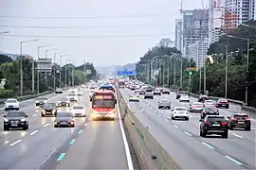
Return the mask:
[(54, 127), (75, 127), (72, 112), (69, 110), (58, 110), (54, 120)]

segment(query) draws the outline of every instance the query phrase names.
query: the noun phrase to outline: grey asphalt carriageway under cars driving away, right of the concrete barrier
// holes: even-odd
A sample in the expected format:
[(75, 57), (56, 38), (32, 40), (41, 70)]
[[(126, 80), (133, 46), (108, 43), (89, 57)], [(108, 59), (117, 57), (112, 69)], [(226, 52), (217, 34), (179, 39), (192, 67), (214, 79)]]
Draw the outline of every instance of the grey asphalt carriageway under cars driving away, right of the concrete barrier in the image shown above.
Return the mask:
[[(128, 89), (121, 89), (126, 101)], [(171, 110), (159, 110), (158, 101), (169, 99), (172, 108), (184, 106), (171, 93), (155, 96), (155, 99), (143, 99), (129, 102), (130, 108), (143, 126), (149, 127), (156, 141), (177, 161), (183, 169), (255, 169), (256, 143), (255, 120), (252, 119), (252, 130), (229, 130), (229, 139), (218, 136), (202, 138), (199, 136), (199, 115), (190, 113), (190, 121), (174, 121), (170, 119)], [(191, 97), (191, 102), (197, 101)], [(231, 112), (242, 112), (238, 106), (230, 105), (230, 109), (220, 109), (220, 113), (229, 116)], [(244, 112), (244, 111), (243, 111)], [(252, 115), (252, 114), (251, 114)]]

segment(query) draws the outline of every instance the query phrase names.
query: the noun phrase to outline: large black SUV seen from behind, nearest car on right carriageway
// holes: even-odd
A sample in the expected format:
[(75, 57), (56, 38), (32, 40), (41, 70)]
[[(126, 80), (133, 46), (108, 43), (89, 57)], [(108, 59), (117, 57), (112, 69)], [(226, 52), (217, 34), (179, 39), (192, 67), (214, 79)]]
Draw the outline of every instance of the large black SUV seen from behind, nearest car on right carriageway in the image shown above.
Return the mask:
[(223, 138), (229, 137), (229, 126), (224, 116), (207, 115), (200, 120), (200, 136), (206, 137), (210, 134), (222, 135)]

